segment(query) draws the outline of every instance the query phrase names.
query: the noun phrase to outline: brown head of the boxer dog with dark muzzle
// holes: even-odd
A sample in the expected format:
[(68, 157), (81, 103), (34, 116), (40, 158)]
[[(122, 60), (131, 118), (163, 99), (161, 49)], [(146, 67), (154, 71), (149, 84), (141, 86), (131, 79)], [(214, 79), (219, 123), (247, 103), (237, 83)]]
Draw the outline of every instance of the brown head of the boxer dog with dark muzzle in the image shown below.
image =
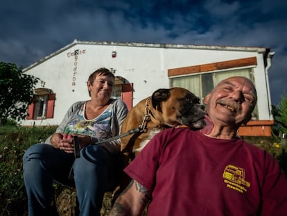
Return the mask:
[(159, 89), (151, 97), (153, 109), (167, 126), (186, 125), (190, 128), (205, 126), (204, 106), (199, 98), (184, 88)]

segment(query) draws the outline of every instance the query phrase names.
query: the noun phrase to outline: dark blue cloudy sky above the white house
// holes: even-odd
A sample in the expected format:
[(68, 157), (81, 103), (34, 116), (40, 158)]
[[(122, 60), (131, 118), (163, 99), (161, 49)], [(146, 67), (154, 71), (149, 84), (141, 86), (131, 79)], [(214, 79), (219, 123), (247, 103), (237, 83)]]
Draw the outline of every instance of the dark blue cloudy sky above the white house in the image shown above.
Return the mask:
[(78, 40), (268, 47), (272, 103), (287, 81), (287, 3), (261, 1), (6, 1), (0, 61), (27, 67)]

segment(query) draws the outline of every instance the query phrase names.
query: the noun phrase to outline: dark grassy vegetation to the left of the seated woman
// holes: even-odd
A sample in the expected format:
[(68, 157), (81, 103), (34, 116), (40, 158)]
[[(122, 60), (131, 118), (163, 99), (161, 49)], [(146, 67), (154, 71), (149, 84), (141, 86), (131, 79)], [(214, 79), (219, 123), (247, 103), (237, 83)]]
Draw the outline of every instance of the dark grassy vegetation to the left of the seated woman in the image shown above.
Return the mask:
[(26, 215), (22, 157), (28, 147), (44, 142), (55, 127), (0, 126), (0, 215)]

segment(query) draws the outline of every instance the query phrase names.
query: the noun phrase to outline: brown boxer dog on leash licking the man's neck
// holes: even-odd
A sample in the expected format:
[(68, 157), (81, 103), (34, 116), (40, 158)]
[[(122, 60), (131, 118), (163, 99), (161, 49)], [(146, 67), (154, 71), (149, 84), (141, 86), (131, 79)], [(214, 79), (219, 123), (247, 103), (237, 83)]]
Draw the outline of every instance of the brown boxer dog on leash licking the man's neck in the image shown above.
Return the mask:
[[(205, 126), (204, 106), (200, 99), (184, 88), (158, 89), (137, 103), (121, 126), (121, 133), (141, 126), (142, 131), (121, 138), (121, 152), (132, 159), (156, 133), (165, 128)], [(125, 163), (127, 161), (125, 160)]]

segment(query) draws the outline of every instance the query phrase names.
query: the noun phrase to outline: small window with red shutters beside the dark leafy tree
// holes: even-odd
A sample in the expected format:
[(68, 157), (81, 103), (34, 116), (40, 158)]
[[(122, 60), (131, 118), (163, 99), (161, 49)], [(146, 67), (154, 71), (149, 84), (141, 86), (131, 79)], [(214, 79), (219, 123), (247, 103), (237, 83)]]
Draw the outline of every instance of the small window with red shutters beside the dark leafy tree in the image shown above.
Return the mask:
[(26, 119), (48, 119), (53, 118), (55, 94), (48, 89), (36, 89), (33, 103), (28, 106)]

